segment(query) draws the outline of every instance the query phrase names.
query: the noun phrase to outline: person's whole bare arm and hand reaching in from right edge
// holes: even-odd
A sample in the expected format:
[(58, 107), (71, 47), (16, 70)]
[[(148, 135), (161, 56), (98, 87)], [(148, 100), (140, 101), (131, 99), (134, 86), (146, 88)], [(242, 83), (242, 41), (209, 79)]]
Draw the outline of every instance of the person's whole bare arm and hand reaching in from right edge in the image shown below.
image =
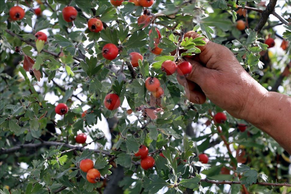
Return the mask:
[[(200, 35), (189, 31), (185, 37)], [(291, 154), (291, 98), (268, 92), (239, 64), (225, 46), (204, 38), (206, 45), (193, 59), (192, 72), (177, 76), (191, 102), (202, 104), (206, 97), (236, 118), (245, 119), (273, 137)]]

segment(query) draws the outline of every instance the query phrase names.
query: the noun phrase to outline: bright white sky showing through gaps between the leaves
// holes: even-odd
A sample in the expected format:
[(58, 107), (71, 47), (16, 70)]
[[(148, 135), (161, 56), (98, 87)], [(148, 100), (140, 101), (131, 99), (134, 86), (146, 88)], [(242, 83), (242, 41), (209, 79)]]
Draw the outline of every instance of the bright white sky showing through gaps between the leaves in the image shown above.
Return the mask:
[[(269, 1), (266, 1), (266, 5), (268, 4), (268, 2), (269, 2)], [(279, 4), (280, 6), (283, 5), (284, 3), (285, 3), (285, 1), (278, 1), (278, 2), (277, 2), (277, 4)], [(38, 5), (37, 5), (36, 2), (34, 2), (34, 5), (35, 5), (35, 7), (38, 7)], [(120, 6), (118, 9), (120, 9), (121, 7), (122, 7), (122, 6)], [(286, 9), (287, 9), (287, 8), (286, 8)], [(290, 8), (290, 6), (289, 6), (289, 10), (290, 10), (290, 9), (291, 9), (291, 8)], [(28, 8), (26, 7), (26, 11), (27, 11), (27, 10), (28, 10)], [(275, 11), (276, 11), (278, 14), (281, 14), (281, 12), (285, 12), (286, 10), (281, 10), (280, 8), (276, 8)], [(44, 16), (48, 16), (48, 17), (49, 17), (49, 16), (52, 15), (52, 12), (51, 12), (49, 9), (45, 9), (45, 10), (43, 10), (43, 13), (42, 13), (42, 14), (43, 14)], [(89, 16), (88, 16), (88, 17), (89, 17)], [(271, 20), (271, 21), (278, 21), (278, 19), (277, 19), (275, 16), (273, 16), (273, 15), (270, 15), (270, 20)], [(35, 21), (36, 21), (36, 16), (33, 16), (33, 19), (32, 19), (33, 25), (34, 25)], [(129, 22), (129, 21), (128, 21), (128, 22)], [(51, 19), (51, 24), (54, 24), (54, 23), (55, 23), (55, 20), (54, 20), (54, 19)], [(85, 29), (86, 29), (86, 28), (84, 28), (84, 29), (77, 29), (76, 27), (73, 27), (73, 28), (72, 28), (72, 31), (84, 31)], [(278, 33), (279, 35), (281, 35), (281, 36), (282, 36), (283, 32), (285, 31), (285, 28), (284, 28), (282, 25), (280, 25), (280, 26), (276, 26), (276, 27), (274, 27), (274, 29), (275, 29), (275, 30), (277, 31), (277, 33)], [(29, 27), (29, 26), (27, 25), (26, 27), (22, 28), (22, 30), (24, 30), (24, 31), (26, 31), (26, 32), (31, 32), (31, 31), (32, 31), (32, 28)], [(45, 32), (47, 35), (50, 35), (50, 36), (53, 35), (53, 34), (48, 34), (48, 31), (47, 31), (47, 30), (42, 30), (42, 31)], [(54, 32), (55, 34), (57, 34), (57, 33), (59, 32), (59, 30), (58, 30), (58, 29), (57, 29), (57, 30), (53, 30), (53, 32)], [(280, 48), (281, 42), (282, 42), (281, 39), (276, 38), (276, 39), (275, 39), (275, 46), (274, 46), (273, 48), (270, 48), (269, 51), (270, 51), (270, 52), (273, 52), (273, 53), (277, 53), (278, 55), (284, 57), (284, 55), (286, 55), (286, 53), (282, 50), (282, 48)], [(90, 44), (90, 42), (89, 42), (89, 41), (84, 41), (83, 44), (84, 44), (84, 47), (86, 47), (88, 44)], [(94, 48), (93, 48), (93, 49), (94, 49)], [(12, 52), (13, 52), (13, 51), (12, 51)], [(35, 54), (37, 54), (37, 53), (35, 53)], [(86, 54), (86, 56), (90, 58), (90, 55), (89, 55), (88, 53)], [(94, 55), (94, 56), (95, 56), (95, 55)], [(287, 56), (285, 56), (285, 57), (287, 57)], [(283, 60), (283, 61), (284, 61), (284, 60)], [(279, 67), (283, 68), (283, 67), (285, 67), (285, 64), (278, 64), (277, 67), (278, 67), (278, 68), (279, 68)], [(65, 71), (65, 69), (62, 68), (62, 67), (61, 67), (60, 69)], [(28, 77), (31, 77), (31, 75), (29, 75), (29, 73), (27, 73), (27, 76), (28, 76)], [(67, 77), (67, 74), (66, 74), (66, 73), (62, 73), (60, 79), (58, 79), (58, 78), (54, 78), (54, 81), (56, 81), (56, 83), (58, 83), (59, 85), (63, 85), (63, 86), (65, 86), (64, 84), (66, 84), (66, 82), (68, 82), (68, 81), (72, 81), (72, 79), (73, 79), (73, 78)], [(44, 82), (45, 82), (46, 84), (48, 84), (48, 83), (47, 83), (47, 77), (42, 78), (41, 81), (35, 85), (35, 89), (36, 89), (38, 92), (42, 92), (42, 93), (43, 93), (43, 91), (41, 91), (41, 87), (42, 87), (42, 85), (43, 85)], [(53, 83), (51, 82), (51, 83), (49, 83), (49, 85), (52, 86)], [(66, 89), (67, 89), (67, 88), (66, 88)], [(77, 88), (77, 89), (74, 91), (74, 95), (79, 94), (81, 91), (82, 91), (82, 88), (81, 88), (81, 85), (80, 85), (79, 88)], [(284, 92), (284, 88), (283, 88), (282, 86), (280, 86), (280, 87), (279, 87), (279, 91), (280, 91), (280, 92)], [(55, 104), (59, 99), (62, 99), (62, 98), (63, 98), (63, 96), (60, 96), (60, 97), (59, 97), (59, 96), (56, 96), (54, 93), (46, 93), (46, 94), (44, 94), (44, 95), (45, 95), (45, 100), (46, 100), (47, 102), (49, 102), (49, 103), (52, 103), (52, 104)], [(85, 95), (78, 95), (78, 97), (79, 97), (80, 99), (82, 99), (83, 101), (86, 101), (86, 100), (87, 100), (87, 96), (85, 96)], [(81, 102), (80, 102), (79, 100), (77, 100), (77, 99), (75, 99), (75, 98), (73, 98), (73, 100), (74, 100), (73, 107), (77, 107), (78, 104), (81, 104)], [(57, 105), (57, 104), (56, 104), (56, 105)], [(122, 104), (122, 107), (124, 107), (124, 108), (129, 108), (126, 99), (124, 100), (124, 102), (123, 102), (123, 104)], [(83, 106), (82, 109), (83, 109), (83, 110), (87, 110), (88, 108), (90, 108), (90, 106), (85, 105), (85, 106)], [(62, 119), (62, 117), (61, 117), (60, 115), (56, 115), (56, 120), (61, 120), (61, 119)], [(133, 121), (136, 120), (136, 117), (135, 117), (134, 115), (131, 115), (131, 116), (128, 116), (128, 119), (131, 120), (131, 122), (133, 122)], [(201, 119), (201, 120), (199, 120), (199, 121), (200, 121), (200, 123), (204, 123), (204, 122), (206, 121), (206, 119)], [(192, 125), (193, 125), (193, 127), (195, 128), (195, 130), (196, 130), (196, 132), (197, 132), (196, 135), (199, 136), (199, 135), (200, 135), (200, 132), (204, 130), (204, 127), (203, 127), (202, 125), (197, 125), (196, 123), (193, 123)], [(102, 131), (104, 132), (104, 134), (106, 135), (106, 138), (107, 138), (107, 140), (108, 140), (108, 142), (106, 143), (106, 147), (108, 147), (108, 148), (110, 149), (111, 146), (112, 146), (112, 145), (111, 145), (111, 135), (110, 135), (110, 133), (109, 133), (109, 128), (108, 128), (107, 121), (106, 121), (106, 119), (103, 117), (103, 115), (102, 115), (102, 121), (100, 121), (100, 120), (98, 119), (98, 122), (97, 122), (96, 125), (92, 126), (91, 129), (89, 129), (89, 128), (88, 128), (88, 129), (85, 129), (85, 131), (88, 131), (88, 130), (95, 130), (95, 129), (100, 129), (100, 130), (102, 130)], [(233, 130), (234, 130), (234, 129), (232, 128), (232, 129), (230, 129), (229, 131), (233, 131)], [(60, 131), (59, 129), (57, 129), (57, 133), (60, 134), (60, 132), (61, 132), (61, 131)], [(79, 132), (81, 132), (81, 130), (80, 130)], [(78, 133), (79, 133), (79, 132), (78, 132)], [(210, 134), (210, 133), (211, 133), (210, 128), (206, 128), (205, 131), (203, 132), (203, 134)], [(201, 134), (201, 135), (203, 135), (203, 134)], [(218, 137), (217, 134), (213, 135), (213, 139), (216, 139), (217, 137)], [(231, 137), (231, 138), (232, 138), (232, 137)], [(231, 140), (231, 139), (230, 139), (230, 140)], [(87, 141), (86, 141), (86, 143), (91, 142), (91, 141), (92, 141), (92, 138), (90, 138), (89, 136), (87, 136)], [(202, 142), (203, 142), (203, 141), (197, 142), (197, 145), (200, 145)], [(98, 146), (96, 146), (95, 143), (92, 143), (92, 144), (90, 144), (90, 145), (87, 146), (87, 148), (90, 148), (90, 149), (95, 149), (95, 148), (97, 148), (97, 147), (98, 147)], [(217, 147), (220, 149), (221, 153), (227, 155), (227, 149), (226, 149), (226, 147), (224, 146), (223, 142), (221, 142), (220, 144), (216, 145), (214, 148), (207, 149), (207, 150), (205, 151), (205, 153), (209, 154), (210, 156), (216, 156), (216, 154), (215, 154), (215, 148), (217, 148)], [(232, 149), (232, 145), (231, 145), (231, 149)], [(232, 149), (232, 150), (234, 150), (234, 149)], [(233, 155), (235, 155), (235, 152), (233, 152)], [(211, 160), (211, 157), (210, 157), (210, 160)], [(217, 165), (219, 165), (219, 163), (217, 163)], [(21, 163), (21, 167), (23, 167), (23, 168), (26, 169), (28, 166), (27, 166), (26, 163)], [(202, 176), (202, 178), (206, 178), (206, 176), (203, 175), (203, 174), (201, 174), (201, 176)], [(25, 177), (26, 177), (26, 176), (25, 176)], [(229, 191), (229, 188), (230, 188), (230, 185), (225, 185), (225, 191), (226, 191), (226, 192)], [(212, 190), (213, 190), (213, 189), (214, 189), (214, 188), (212, 188)], [(159, 193), (164, 193), (166, 190), (167, 190), (167, 189), (160, 190)]]

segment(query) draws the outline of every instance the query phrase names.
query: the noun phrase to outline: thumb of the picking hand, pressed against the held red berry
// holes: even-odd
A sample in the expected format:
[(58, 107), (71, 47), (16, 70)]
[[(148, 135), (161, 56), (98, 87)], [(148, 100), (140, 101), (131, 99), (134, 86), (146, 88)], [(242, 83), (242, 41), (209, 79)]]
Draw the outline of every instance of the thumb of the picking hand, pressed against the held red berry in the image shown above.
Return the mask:
[(212, 70), (204, 67), (199, 62), (194, 61), (193, 59), (186, 58), (186, 61), (188, 61), (192, 65), (192, 71), (190, 74), (185, 76), (186, 79), (193, 81), (201, 88), (204, 88), (203, 86), (206, 83), (206, 79)]

